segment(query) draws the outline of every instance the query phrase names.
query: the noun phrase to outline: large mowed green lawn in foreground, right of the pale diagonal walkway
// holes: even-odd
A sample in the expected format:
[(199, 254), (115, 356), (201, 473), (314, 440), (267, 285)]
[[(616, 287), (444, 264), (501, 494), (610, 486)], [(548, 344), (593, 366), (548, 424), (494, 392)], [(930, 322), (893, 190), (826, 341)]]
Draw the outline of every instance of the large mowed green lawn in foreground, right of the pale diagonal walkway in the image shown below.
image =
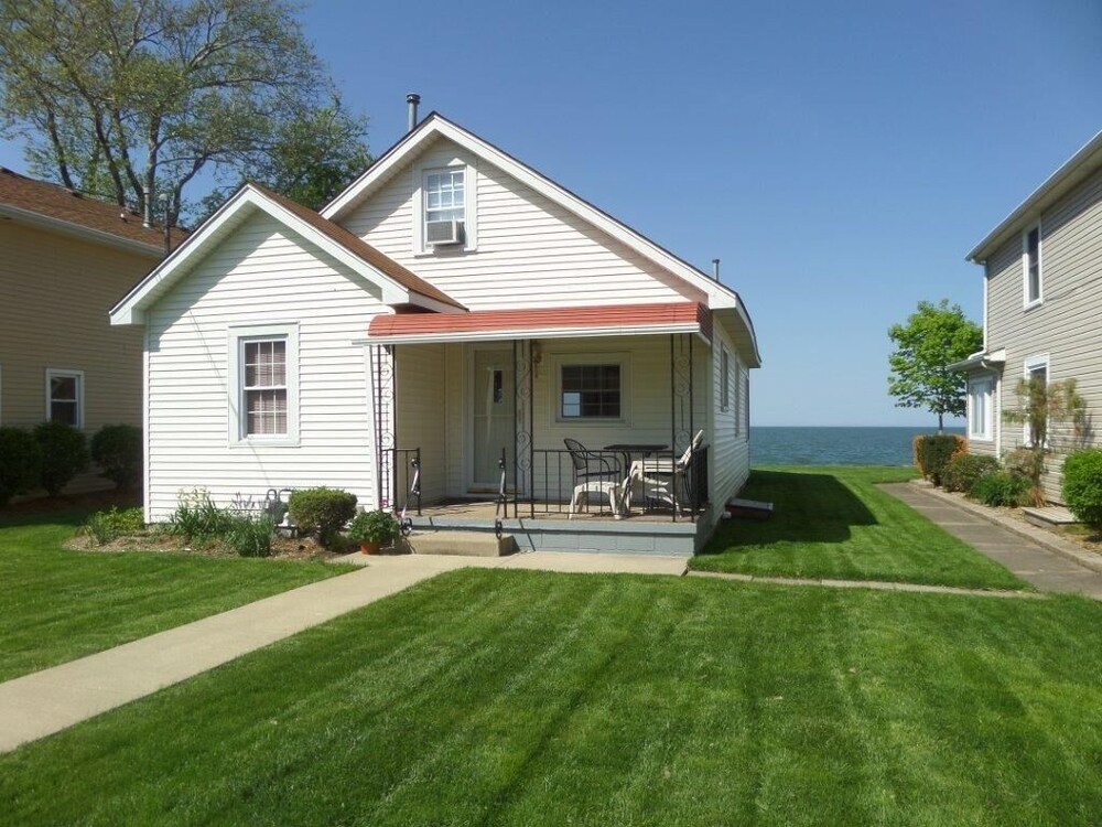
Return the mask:
[(462, 571), (0, 756), (33, 825), (1087, 825), (1102, 605)]

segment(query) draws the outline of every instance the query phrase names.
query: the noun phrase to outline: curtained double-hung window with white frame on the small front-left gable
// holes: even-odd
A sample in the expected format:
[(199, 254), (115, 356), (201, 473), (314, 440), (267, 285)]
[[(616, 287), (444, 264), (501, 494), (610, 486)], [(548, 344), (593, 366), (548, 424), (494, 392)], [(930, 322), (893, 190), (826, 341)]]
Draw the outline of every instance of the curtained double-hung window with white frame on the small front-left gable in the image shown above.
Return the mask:
[(298, 440), (298, 330), (294, 325), (230, 330), (230, 442)]

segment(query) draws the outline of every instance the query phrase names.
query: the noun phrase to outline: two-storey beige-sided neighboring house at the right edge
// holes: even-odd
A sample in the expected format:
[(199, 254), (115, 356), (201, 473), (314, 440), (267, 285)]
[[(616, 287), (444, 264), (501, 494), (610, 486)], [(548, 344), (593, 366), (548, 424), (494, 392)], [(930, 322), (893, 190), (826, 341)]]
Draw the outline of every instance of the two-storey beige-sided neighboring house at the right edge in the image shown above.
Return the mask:
[[(1004, 412), (1020, 407), (1023, 378), (1074, 379), (1095, 422), (1102, 414), (1102, 132), (969, 253), (984, 267), (983, 351), (968, 373), (973, 453), (1003, 457), (1028, 433)], [(1047, 496), (1061, 502), (1060, 469), (1077, 440), (1052, 423)], [(1085, 440), (1092, 439), (1088, 431)]]

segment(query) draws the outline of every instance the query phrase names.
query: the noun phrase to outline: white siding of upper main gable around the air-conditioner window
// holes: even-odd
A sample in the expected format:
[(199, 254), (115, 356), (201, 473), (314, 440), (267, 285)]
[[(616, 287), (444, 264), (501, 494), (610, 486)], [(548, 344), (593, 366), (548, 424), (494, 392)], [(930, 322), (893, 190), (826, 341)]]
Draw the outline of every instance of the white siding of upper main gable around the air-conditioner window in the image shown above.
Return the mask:
[[(420, 170), (477, 168), (477, 249), (413, 253)], [(471, 309), (704, 300), (609, 236), (466, 150), (440, 139), (341, 222)]]

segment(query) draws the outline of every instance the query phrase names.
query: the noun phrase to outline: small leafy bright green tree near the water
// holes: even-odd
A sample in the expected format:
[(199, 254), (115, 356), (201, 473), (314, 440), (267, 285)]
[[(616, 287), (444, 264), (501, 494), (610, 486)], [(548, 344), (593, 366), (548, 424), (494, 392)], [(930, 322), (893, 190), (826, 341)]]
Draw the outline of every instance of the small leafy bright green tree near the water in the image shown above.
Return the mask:
[(965, 377), (949, 365), (983, 346), (983, 330), (948, 299), (933, 304), (920, 301), (906, 324), (893, 324), (888, 337), (896, 351), (888, 356), (892, 373), (888, 393), (897, 408), (926, 408), (938, 415), (938, 432), (944, 417), (962, 417), (966, 410)]

